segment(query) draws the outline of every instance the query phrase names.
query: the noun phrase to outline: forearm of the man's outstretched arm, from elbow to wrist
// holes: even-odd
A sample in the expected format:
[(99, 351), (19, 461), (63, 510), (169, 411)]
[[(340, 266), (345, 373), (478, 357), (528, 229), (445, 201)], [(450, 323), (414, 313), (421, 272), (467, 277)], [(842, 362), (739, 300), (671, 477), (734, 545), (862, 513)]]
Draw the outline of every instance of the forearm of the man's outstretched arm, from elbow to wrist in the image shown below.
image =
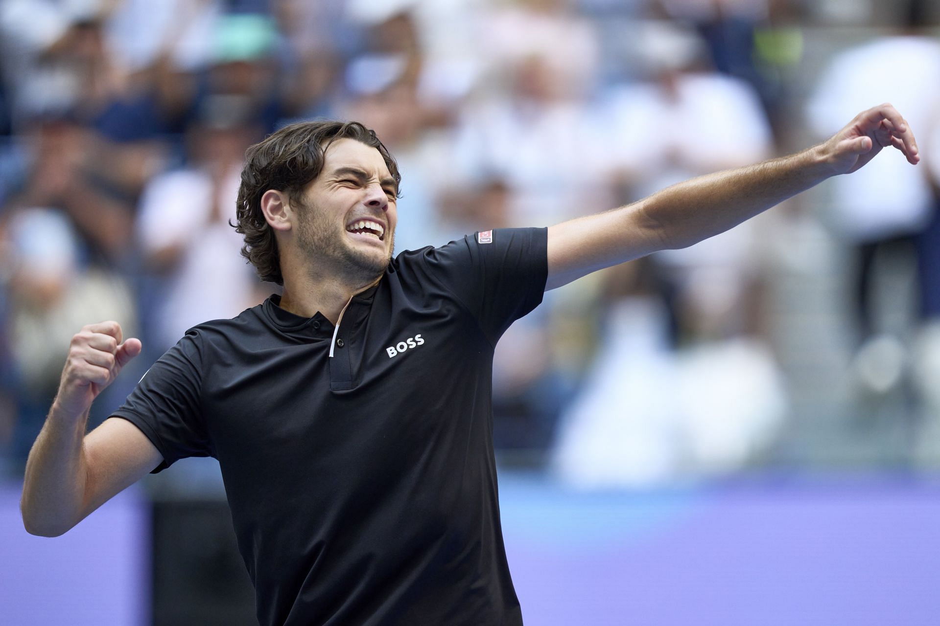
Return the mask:
[(667, 248), (686, 248), (723, 233), (832, 176), (819, 146), (707, 176), (654, 193), (639, 210)]

